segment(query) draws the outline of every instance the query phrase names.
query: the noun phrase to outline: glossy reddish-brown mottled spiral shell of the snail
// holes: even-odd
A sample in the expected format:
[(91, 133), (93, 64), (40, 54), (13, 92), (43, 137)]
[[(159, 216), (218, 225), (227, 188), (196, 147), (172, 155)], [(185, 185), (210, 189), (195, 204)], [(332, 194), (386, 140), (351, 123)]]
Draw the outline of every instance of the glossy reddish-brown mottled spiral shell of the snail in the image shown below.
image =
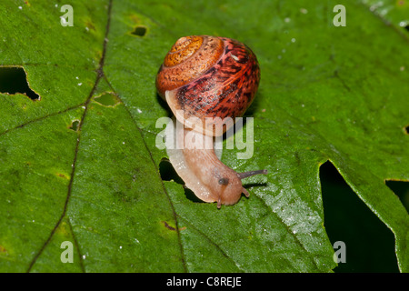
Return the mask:
[(258, 62), (248, 46), (208, 35), (179, 38), (156, 76), (157, 91), (176, 118), (206, 135), (222, 135), (233, 125), (223, 124), (244, 114), (259, 82)]

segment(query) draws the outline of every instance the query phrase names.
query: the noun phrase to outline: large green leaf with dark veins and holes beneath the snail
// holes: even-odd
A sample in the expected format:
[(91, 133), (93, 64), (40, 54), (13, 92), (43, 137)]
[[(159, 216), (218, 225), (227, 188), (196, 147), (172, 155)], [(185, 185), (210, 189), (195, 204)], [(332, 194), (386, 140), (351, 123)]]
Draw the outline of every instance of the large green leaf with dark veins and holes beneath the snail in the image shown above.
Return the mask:
[[(334, 26), (337, 4), (71, 1), (63, 26), (60, 3), (2, 2), (0, 271), (330, 272), (329, 160), (394, 233), (407, 272), (408, 214), (385, 181), (409, 179), (409, 7), (344, 1), (346, 26)], [(222, 160), (269, 174), (220, 210), (160, 173), (155, 124), (171, 112), (155, 75), (184, 35), (238, 39), (261, 66), (243, 129), (254, 125), (254, 155)], [(38, 100), (5, 85), (10, 67)]]

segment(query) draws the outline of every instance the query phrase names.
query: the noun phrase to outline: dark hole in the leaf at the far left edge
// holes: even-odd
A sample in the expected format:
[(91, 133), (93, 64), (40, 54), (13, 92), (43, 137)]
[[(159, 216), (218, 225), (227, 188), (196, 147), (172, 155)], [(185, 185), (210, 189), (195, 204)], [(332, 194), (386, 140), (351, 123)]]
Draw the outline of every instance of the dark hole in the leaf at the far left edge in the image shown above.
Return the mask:
[(27, 83), (27, 76), (23, 67), (0, 66), (0, 93), (15, 95), (24, 94), (31, 100), (40, 100)]

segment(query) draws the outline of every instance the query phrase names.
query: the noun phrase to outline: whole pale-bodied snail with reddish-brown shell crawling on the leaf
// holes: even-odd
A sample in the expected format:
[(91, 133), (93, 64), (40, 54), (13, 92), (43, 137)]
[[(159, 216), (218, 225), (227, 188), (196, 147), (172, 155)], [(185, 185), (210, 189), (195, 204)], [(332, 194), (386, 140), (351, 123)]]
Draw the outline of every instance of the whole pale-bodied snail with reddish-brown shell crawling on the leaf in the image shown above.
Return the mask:
[(157, 92), (175, 115), (176, 144), (184, 145), (166, 147), (169, 160), (195, 196), (217, 202), (218, 208), (234, 205), (242, 194), (249, 196), (241, 179), (267, 174), (266, 170), (236, 173), (214, 153), (214, 136), (234, 125), (225, 120), (244, 114), (259, 81), (258, 62), (248, 46), (209, 35), (179, 38), (156, 76)]

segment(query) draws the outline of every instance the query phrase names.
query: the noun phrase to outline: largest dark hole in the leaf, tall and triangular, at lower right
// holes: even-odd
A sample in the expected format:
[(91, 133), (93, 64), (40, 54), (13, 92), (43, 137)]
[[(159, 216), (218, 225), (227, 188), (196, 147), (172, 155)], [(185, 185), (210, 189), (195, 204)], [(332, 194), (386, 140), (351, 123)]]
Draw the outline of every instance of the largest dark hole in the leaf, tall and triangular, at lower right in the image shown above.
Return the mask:
[(324, 226), (331, 244), (343, 241), (345, 263), (334, 272), (399, 272), (394, 235), (356, 196), (330, 162), (320, 167)]

